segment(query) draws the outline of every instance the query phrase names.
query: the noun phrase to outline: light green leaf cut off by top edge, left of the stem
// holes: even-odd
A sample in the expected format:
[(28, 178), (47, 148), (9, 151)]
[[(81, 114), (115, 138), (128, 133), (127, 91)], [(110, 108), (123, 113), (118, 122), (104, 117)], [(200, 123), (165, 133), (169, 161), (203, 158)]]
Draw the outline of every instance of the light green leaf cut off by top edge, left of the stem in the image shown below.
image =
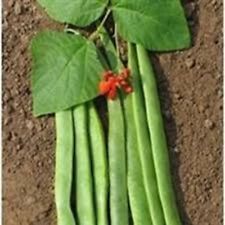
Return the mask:
[(87, 26), (97, 20), (108, 0), (38, 0), (53, 19), (77, 26)]

